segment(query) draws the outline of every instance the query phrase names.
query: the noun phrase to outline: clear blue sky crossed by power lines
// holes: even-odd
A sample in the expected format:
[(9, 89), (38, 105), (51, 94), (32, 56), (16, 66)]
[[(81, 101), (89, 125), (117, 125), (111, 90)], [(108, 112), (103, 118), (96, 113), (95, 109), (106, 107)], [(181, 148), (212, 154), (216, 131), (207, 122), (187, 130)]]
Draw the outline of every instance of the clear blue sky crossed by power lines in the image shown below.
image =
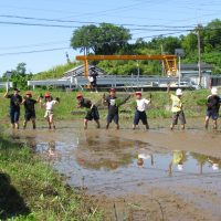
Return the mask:
[[(75, 28), (49, 28), (12, 25), (2, 22), (43, 23), (81, 27), (80, 22), (110, 22), (115, 24), (135, 24), (133, 39), (154, 35), (185, 34), (176, 30), (162, 30), (162, 27), (194, 27), (207, 24), (213, 19), (221, 19), (220, 0), (8, 0), (0, 1), (0, 75), (15, 69), (20, 62), (27, 63), (28, 71), (38, 73), (66, 62), (67, 52), (71, 60), (78, 53), (70, 48), (70, 39)], [(39, 19), (59, 19), (76, 21), (57, 23), (31, 21), (14, 17)], [(138, 25), (159, 25), (141, 28)], [(155, 29), (155, 31), (152, 30)], [(157, 29), (157, 30), (156, 30)], [(183, 28), (182, 28), (183, 29)], [(34, 52), (43, 50), (48, 52)], [(23, 53), (33, 52), (33, 53)], [(19, 54), (11, 54), (19, 53)]]

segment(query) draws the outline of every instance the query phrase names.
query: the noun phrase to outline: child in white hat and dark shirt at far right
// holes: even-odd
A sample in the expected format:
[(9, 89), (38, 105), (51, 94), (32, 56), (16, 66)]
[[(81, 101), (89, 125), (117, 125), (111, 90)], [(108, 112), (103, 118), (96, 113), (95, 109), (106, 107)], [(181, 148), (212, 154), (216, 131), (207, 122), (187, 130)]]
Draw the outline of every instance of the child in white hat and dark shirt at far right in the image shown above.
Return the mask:
[(207, 97), (207, 114), (206, 114), (206, 119), (204, 119), (206, 129), (208, 129), (210, 117), (213, 120), (213, 129), (217, 129), (219, 109), (220, 109), (220, 97), (218, 96), (218, 88), (212, 87), (211, 95)]

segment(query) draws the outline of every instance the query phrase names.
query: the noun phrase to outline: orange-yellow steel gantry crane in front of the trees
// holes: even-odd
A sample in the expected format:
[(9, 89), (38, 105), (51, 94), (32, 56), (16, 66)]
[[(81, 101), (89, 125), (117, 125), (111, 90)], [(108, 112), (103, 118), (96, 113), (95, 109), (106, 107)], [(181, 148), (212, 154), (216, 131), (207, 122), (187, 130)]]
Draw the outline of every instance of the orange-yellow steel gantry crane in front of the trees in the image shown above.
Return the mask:
[(177, 56), (176, 55), (77, 55), (77, 61), (84, 62), (85, 76), (88, 76), (88, 61), (103, 60), (159, 60), (162, 61), (165, 74), (177, 76)]

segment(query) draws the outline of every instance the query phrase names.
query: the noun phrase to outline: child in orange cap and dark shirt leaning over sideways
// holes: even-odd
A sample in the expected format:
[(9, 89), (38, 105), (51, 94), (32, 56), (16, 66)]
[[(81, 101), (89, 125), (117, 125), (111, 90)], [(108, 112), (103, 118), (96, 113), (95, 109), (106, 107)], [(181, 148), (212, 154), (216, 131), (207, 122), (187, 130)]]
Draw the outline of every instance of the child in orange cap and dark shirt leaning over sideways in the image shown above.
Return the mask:
[(93, 119), (96, 122), (97, 128), (99, 128), (99, 113), (96, 105), (92, 104), (90, 99), (84, 98), (82, 93), (76, 94), (76, 99), (78, 108), (86, 108), (86, 116), (84, 117), (84, 129), (87, 129), (87, 123)]

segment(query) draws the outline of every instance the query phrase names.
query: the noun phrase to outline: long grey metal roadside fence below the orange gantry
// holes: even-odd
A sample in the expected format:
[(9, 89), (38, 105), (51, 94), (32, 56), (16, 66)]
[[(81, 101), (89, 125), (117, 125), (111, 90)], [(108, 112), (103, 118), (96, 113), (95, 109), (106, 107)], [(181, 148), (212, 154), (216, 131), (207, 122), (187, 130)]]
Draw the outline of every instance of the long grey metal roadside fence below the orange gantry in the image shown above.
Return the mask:
[[(97, 85), (99, 87), (166, 87), (168, 82), (172, 86), (179, 86), (179, 80), (177, 77), (160, 77), (160, 76), (122, 76), (122, 75), (104, 75), (97, 77)], [(28, 86), (65, 86), (65, 87), (81, 87), (88, 85), (90, 82), (87, 77), (66, 77), (61, 80), (42, 80), (42, 81), (28, 81)], [(188, 77), (182, 77), (180, 80), (181, 86), (192, 86), (192, 82)]]

